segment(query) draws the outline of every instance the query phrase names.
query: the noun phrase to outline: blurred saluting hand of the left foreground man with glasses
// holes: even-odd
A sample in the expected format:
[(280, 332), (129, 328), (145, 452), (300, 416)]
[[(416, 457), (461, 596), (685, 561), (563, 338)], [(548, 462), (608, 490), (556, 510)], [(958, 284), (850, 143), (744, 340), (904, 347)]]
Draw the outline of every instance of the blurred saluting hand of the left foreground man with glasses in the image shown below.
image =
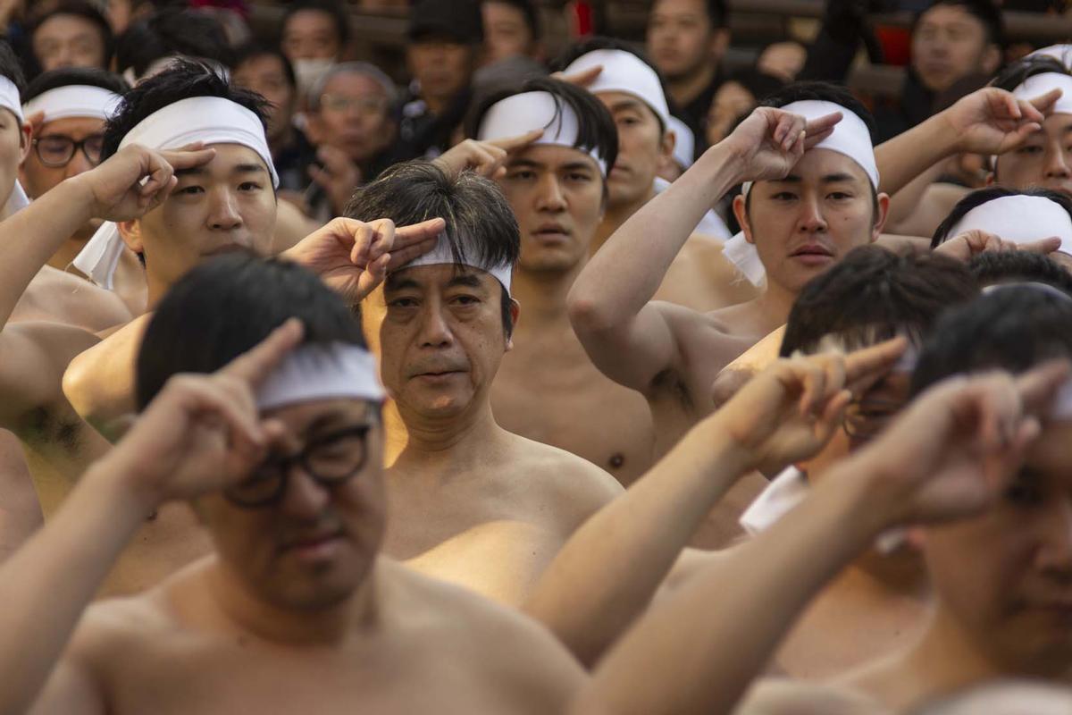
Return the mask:
[(291, 319), (211, 375), (173, 376), (103, 463), (148, 510), (245, 478), (282, 432), (260, 419), (254, 390), (301, 337)]

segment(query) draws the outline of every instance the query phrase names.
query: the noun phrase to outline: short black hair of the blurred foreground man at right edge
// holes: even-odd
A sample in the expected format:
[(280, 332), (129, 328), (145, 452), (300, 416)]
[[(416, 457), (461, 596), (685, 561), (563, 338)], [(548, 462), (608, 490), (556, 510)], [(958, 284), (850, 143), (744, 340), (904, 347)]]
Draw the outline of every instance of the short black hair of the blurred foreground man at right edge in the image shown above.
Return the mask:
[(1021, 373), (1072, 357), (1072, 298), (1031, 285), (1004, 285), (943, 315), (920, 352), (912, 394), (951, 375)]

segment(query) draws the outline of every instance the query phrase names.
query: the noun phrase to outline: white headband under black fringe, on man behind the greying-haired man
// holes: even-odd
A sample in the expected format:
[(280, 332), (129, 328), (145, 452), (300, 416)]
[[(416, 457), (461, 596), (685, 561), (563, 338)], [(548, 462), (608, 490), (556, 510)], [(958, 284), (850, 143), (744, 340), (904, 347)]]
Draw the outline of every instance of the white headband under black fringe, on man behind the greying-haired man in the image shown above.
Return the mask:
[[(574, 109), (550, 92), (521, 92), (495, 102), (480, 121), (477, 138), (493, 141), (524, 134), (526, 131), (542, 129), (544, 136), (533, 144), (569, 147), (584, 151), (577, 146), (580, 121)], [(607, 176), (607, 161), (593, 147), (586, 152), (604, 176)]]

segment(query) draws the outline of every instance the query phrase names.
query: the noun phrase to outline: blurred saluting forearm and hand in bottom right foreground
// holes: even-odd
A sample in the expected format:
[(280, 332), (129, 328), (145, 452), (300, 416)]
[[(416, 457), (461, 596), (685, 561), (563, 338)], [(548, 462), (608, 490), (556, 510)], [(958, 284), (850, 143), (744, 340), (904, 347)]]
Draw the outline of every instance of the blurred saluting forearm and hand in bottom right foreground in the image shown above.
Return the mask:
[(1039, 432), (1023, 405), (1064, 379), (1067, 367), (1054, 367), (1015, 381), (954, 378), (921, 397), (796, 509), (655, 607), (600, 664), (575, 712), (729, 712), (796, 614), (878, 534), (992, 503), (1001, 489), (992, 475), (1013, 473)]

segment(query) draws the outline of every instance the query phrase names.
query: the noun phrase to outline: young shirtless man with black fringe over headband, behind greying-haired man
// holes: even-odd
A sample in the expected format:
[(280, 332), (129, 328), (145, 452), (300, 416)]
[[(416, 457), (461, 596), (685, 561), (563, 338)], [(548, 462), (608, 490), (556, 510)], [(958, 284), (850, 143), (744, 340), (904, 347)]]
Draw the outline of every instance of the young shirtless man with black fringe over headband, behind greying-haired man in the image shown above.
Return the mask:
[[(555, 111), (568, 114), (568, 136)], [(583, 457), (628, 486), (652, 464), (651, 413), (642, 397), (592, 364), (566, 312), (607, 200), (613, 120), (584, 90), (534, 79), (479, 107), (470, 134), (487, 141), (545, 126), (536, 144), (509, 152), (496, 178), (521, 230), (511, 293), (524, 317), (491, 404), (504, 429)]]

